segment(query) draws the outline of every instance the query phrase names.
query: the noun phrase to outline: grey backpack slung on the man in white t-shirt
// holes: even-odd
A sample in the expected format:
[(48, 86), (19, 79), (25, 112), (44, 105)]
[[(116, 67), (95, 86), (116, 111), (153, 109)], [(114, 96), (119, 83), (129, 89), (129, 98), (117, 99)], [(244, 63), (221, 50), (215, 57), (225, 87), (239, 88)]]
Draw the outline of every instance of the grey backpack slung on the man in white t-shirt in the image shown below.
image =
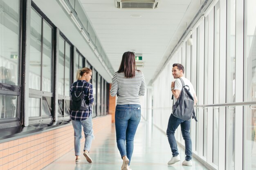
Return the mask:
[(177, 102), (173, 105), (173, 116), (182, 120), (190, 120), (192, 117), (195, 121), (198, 121), (195, 117), (194, 97), (189, 92), (189, 89), (186, 88), (189, 88), (189, 86), (184, 84), (183, 79), (179, 79), (182, 82), (182, 89)]

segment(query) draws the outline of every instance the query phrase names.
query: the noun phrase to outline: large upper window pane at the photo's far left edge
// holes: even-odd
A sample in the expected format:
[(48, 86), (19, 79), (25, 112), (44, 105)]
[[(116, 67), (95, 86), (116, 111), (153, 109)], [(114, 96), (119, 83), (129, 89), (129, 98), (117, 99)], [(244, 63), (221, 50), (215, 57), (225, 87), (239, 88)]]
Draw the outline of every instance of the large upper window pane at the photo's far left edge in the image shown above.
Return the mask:
[(0, 0), (0, 82), (18, 85), (20, 0)]

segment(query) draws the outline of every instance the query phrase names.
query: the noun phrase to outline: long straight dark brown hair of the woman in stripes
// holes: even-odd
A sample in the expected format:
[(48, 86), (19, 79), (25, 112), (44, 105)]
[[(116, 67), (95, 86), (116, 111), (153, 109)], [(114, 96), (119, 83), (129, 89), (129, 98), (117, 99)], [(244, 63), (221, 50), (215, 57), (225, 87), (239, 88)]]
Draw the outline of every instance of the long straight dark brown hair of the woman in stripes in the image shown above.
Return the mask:
[(122, 61), (117, 73), (124, 72), (124, 76), (126, 78), (132, 78), (135, 76), (135, 70), (137, 70), (135, 54), (133, 52), (127, 51), (123, 54)]

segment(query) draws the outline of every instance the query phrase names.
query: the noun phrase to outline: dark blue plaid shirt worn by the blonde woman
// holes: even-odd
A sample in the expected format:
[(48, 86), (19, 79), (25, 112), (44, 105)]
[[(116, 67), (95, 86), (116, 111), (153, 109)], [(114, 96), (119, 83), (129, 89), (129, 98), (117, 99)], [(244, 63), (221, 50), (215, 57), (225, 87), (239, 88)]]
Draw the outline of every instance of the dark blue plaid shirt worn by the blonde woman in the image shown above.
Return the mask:
[(86, 104), (88, 104), (89, 107), (87, 110), (81, 110), (81, 111), (70, 110), (70, 116), (72, 120), (78, 120), (78, 121), (85, 120), (90, 116), (90, 114), (92, 114), (92, 103), (94, 101), (92, 84), (90, 82), (86, 82), (85, 80), (77, 80), (70, 86), (71, 95), (72, 93), (74, 93), (74, 91), (76, 91), (74, 86), (76, 86), (78, 91), (81, 91), (83, 86), (85, 86), (83, 89), (83, 92), (84, 92), (83, 98), (85, 99)]

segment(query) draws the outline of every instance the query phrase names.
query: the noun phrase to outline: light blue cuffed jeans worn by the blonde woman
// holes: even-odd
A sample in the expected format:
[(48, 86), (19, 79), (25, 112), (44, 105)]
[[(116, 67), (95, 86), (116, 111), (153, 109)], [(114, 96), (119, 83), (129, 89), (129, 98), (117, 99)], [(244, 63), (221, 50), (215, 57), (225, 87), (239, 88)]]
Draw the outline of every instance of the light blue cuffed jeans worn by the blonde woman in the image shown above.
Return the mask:
[(75, 146), (75, 155), (80, 155), (80, 140), (82, 139), (82, 126), (83, 132), (85, 135), (85, 144), (83, 150), (90, 151), (92, 145), (92, 139), (94, 139), (93, 130), (92, 130), (92, 114), (82, 121), (72, 120), (72, 125), (74, 128), (74, 146)]

